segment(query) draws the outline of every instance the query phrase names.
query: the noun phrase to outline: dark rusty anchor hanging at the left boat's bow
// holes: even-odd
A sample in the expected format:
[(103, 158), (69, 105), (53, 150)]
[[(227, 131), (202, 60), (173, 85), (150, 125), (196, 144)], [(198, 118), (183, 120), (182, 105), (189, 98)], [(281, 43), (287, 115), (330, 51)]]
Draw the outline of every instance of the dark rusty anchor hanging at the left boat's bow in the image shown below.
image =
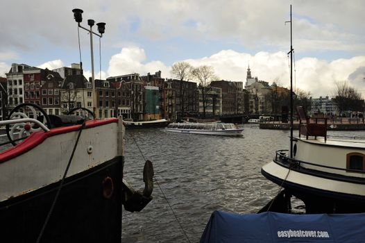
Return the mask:
[(153, 191), (153, 165), (150, 160), (146, 160), (143, 168), (144, 190), (136, 191), (129, 183), (124, 180), (122, 182), (122, 203), (124, 209), (129, 212), (139, 212), (152, 200)]

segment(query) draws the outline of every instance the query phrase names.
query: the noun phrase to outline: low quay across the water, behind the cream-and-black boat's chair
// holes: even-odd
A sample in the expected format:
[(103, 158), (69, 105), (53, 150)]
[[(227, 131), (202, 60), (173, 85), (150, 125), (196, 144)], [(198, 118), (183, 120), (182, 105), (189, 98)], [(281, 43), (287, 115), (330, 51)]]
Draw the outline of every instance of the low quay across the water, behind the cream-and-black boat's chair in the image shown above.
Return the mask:
[[(311, 119), (311, 122), (315, 122), (315, 119)], [(317, 121), (319, 124), (323, 124), (323, 119)], [(293, 128), (298, 130), (299, 121), (293, 121)], [(260, 122), (260, 129), (278, 129), (289, 130), (290, 123), (281, 121), (262, 121)], [(350, 119), (350, 118), (338, 118), (328, 119), (327, 121), (328, 131), (362, 131), (365, 130), (364, 119)]]

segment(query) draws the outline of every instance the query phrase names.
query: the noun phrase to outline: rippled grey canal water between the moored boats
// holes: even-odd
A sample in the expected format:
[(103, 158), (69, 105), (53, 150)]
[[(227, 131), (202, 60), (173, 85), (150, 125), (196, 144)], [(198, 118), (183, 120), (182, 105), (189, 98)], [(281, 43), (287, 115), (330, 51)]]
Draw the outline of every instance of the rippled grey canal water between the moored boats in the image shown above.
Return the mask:
[[(198, 242), (214, 210), (255, 213), (265, 206), (279, 186), (260, 169), (276, 150), (289, 149), (290, 132), (257, 124), (244, 129), (243, 137), (127, 130), (124, 178), (142, 189), (144, 159), (151, 160), (155, 187), (144, 210), (123, 211), (122, 242)], [(364, 131), (328, 133), (365, 137)]]

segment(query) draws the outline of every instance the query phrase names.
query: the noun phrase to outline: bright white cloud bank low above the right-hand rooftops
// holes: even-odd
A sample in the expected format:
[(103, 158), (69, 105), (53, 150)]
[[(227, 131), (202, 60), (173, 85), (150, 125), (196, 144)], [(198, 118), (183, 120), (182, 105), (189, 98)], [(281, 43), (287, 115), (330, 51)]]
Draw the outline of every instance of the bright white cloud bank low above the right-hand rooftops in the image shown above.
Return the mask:
[[(210, 65), (219, 78), (228, 81), (246, 82), (248, 63), (251, 74), (259, 80), (275, 81), (284, 87), (290, 87), (289, 60), (287, 53), (259, 52), (255, 56), (238, 53), (232, 50), (220, 51), (210, 57), (185, 60), (191, 65)], [(349, 59), (338, 59), (332, 62), (317, 58), (302, 58), (293, 67), (293, 85), (301, 90), (311, 92), (313, 97), (332, 96), (335, 84), (349, 81), (357, 90), (365, 90), (365, 56)], [(365, 98), (365, 96), (364, 96)]]

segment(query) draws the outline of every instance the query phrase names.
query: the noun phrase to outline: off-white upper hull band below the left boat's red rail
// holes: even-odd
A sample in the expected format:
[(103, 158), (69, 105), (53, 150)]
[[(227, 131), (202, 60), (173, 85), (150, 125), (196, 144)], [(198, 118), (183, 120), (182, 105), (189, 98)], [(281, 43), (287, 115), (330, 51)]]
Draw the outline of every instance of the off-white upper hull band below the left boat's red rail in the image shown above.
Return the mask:
[[(110, 123), (82, 131), (67, 177), (117, 156), (117, 126)], [(78, 133), (47, 137), (30, 151), (0, 163), (0, 201), (60, 181)]]

